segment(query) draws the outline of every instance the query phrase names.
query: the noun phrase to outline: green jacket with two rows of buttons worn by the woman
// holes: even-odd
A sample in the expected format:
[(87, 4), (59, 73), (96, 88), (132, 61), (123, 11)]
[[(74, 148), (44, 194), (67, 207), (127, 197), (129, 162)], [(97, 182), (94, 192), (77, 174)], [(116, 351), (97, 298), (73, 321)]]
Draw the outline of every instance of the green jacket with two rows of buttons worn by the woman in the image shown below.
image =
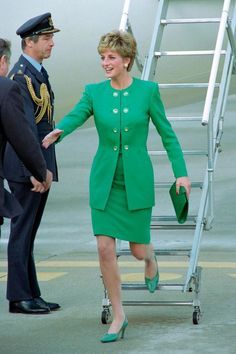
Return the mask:
[[(183, 153), (165, 116), (158, 86), (137, 78), (124, 90), (110, 81), (87, 85), (81, 100), (57, 124), (60, 140), (94, 116), (99, 146), (90, 173), (90, 206), (104, 210), (122, 151), (129, 210), (155, 204), (153, 167), (147, 151), (150, 118), (162, 138), (175, 177), (187, 176)], [(59, 141), (60, 141), (59, 140)]]

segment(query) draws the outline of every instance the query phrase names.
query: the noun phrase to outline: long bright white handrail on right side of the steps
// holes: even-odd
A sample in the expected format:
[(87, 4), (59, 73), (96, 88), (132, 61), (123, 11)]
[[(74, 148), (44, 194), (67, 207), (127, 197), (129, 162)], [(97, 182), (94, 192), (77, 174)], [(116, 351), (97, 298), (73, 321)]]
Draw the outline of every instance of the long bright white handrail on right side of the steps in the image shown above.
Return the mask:
[(219, 66), (219, 61), (220, 61), (221, 50), (222, 50), (222, 46), (223, 46), (224, 33), (225, 33), (225, 28), (227, 26), (227, 21), (228, 21), (230, 1), (231, 0), (225, 0), (224, 5), (223, 5), (222, 16), (221, 16), (220, 26), (219, 26), (219, 32), (218, 32), (216, 46), (215, 46), (215, 54), (213, 57), (213, 62), (212, 62), (212, 67), (211, 67), (209, 86), (208, 86), (204, 110), (203, 110), (202, 125), (207, 125), (208, 121), (209, 121), (209, 117), (210, 117), (210, 110), (211, 110), (211, 105), (212, 105), (212, 100), (213, 100), (213, 94), (214, 94), (214, 88), (215, 88), (216, 76), (217, 76), (217, 71), (218, 71), (218, 66)]

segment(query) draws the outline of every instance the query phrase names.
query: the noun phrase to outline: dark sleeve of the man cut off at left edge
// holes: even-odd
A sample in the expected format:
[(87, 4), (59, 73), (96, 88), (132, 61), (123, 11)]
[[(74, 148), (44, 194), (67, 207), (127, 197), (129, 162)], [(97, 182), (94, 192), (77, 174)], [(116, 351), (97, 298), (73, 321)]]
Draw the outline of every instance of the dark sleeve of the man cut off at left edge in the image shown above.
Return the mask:
[(37, 180), (45, 181), (46, 162), (39, 143), (25, 118), (22, 95), (16, 83), (11, 85), (3, 102), (2, 124), (8, 142), (26, 168)]

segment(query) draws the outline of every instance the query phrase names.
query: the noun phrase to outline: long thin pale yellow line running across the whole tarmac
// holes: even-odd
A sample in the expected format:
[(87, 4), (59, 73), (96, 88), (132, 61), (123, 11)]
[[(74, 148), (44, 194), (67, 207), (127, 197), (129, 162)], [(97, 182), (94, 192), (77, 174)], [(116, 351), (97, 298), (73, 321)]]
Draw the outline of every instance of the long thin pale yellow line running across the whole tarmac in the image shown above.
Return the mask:
[[(140, 268), (143, 267), (144, 262), (138, 261), (119, 261), (120, 267), (126, 268)], [(178, 261), (159, 261), (159, 266), (162, 268), (188, 268), (188, 262)], [(236, 269), (236, 262), (199, 262), (199, 266), (203, 268), (215, 268), (215, 269)], [(6, 261), (0, 261), (0, 266), (6, 267)], [(39, 261), (37, 267), (48, 268), (97, 268), (99, 267), (98, 261)]]

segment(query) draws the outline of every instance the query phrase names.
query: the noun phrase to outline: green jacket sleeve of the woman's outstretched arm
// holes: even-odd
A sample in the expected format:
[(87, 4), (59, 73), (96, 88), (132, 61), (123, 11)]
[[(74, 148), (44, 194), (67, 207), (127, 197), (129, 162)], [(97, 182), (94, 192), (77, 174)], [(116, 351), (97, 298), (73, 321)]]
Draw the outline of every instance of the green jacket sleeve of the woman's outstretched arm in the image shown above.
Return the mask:
[(89, 86), (86, 86), (80, 101), (56, 125), (56, 128), (64, 130), (57, 142), (60, 142), (66, 135), (83, 125), (91, 115), (93, 115), (92, 98), (89, 94)]

